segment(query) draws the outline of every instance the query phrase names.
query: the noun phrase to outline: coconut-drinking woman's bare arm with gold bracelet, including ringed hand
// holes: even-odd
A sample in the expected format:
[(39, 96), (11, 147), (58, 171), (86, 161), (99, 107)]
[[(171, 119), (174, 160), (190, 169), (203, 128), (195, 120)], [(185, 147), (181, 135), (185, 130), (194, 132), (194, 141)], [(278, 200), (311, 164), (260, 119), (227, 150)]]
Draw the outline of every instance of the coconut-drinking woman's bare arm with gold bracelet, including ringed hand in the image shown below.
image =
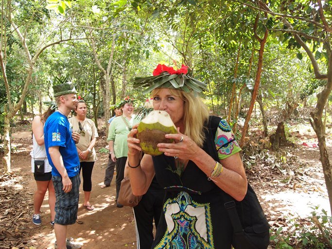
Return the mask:
[[(216, 166), (216, 161), (200, 148), (189, 137), (178, 134), (167, 134), (166, 138), (172, 138), (177, 143), (159, 143), (157, 146), (160, 151), (165, 152), (166, 156), (178, 157), (182, 160), (192, 160), (208, 178), (224, 190), (234, 199), (241, 201), (245, 197), (247, 190), (247, 179), (245, 169), (239, 153), (220, 160), (223, 171), (218, 177), (211, 177)], [(183, 137), (183, 142), (178, 142)]]

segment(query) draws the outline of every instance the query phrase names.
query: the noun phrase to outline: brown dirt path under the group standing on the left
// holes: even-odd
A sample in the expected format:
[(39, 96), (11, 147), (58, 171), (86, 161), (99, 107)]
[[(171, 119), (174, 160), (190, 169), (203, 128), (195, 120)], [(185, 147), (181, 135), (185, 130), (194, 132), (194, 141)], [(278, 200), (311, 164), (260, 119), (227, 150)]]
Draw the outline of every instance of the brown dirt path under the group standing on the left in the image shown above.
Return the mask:
[[(35, 179), (31, 173), (31, 157), (29, 155), (32, 145), (28, 132), (13, 134), (13, 144), (16, 144), (18, 153), (12, 156), (12, 170), (18, 178), (17, 188), (22, 188), (31, 195), (30, 210), (33, 212), (33, 193), (35, 190)], [(29, 139), (27, 139), (29, 138)], [(105, 138), (100, 138), (105, 140)], [(97, 144), (96, 150), (101, 147), (102, 142)], [(82, 242), (84, 248), (111, 249), (111, 248), (136, 248), (136, 235), (134, 216), (132, 208), (117, 208), (115, 205), (115, 176), (111, 186), (101, 189), (107, 165), (107, 155), (98, 153), (98, 160), (94, 164), (92, 172), (92, 191), (90, 202), (95, 210), (87, 211), (83, 207), (84, 193), (82, 184), (80, 186), (80, 204), (78, 209), (78, 221), (82, 224), (74, 224), (68, 227), (68, 237)], [(47, 196), (47, 194), (46, 194)], [(37, 249), (53, 249), (55, 235), (50, 225), (50, 212), (47, 197), (41, 208), (42, 225), (35, 226), (32, 222), (27, 226), (30, 230), (31, 239), (28, 245)]]

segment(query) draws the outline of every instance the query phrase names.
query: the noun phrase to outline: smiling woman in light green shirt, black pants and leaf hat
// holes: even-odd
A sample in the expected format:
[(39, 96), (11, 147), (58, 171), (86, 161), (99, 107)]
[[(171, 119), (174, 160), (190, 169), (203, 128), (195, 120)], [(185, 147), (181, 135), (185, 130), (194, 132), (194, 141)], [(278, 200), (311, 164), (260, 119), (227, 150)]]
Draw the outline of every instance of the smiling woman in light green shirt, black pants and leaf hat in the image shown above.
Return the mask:
[(132, 129), (133, 125), (138, 124), (140, 121), (135, 119), (134, 114), (135, 100), (129, 96), (125, 97), (118, 107), (122, 110), (122, 116), (116, 117), (111, 125), (109, 125), (107, 142), (109, 146), (109, 155), (111, 160), (116, 162), (116, 205), (122, 208), (123, 205), (118, 202), (118, 196), (123, 179), (125, 162), (127, 160), (128, 146), (127, 135)]

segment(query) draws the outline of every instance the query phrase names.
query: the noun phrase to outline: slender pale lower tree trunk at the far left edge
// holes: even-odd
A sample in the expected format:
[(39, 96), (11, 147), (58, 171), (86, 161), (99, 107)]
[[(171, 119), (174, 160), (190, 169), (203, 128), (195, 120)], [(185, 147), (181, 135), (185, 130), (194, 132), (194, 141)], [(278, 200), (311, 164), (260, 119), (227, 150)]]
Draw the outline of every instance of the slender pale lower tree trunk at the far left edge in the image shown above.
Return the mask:
[(11, 173), (11, 166), (10, 166), (10, 153), (11, 153), (11, 146), (10, 146), (10, 118), (8, 113), (8, 106), (5, 105), (5, 115), (4, 115), (4, 126), (3, 126), (3, 150), (4, 156), (2, 158), (3, 164), (3, 173), (8, 174)]

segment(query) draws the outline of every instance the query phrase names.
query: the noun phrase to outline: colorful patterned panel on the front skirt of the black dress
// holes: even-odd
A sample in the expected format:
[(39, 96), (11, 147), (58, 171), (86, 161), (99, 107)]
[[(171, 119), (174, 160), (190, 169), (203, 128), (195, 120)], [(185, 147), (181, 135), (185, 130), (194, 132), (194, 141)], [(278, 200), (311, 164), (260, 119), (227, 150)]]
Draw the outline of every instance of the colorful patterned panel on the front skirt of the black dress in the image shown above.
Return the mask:
[(167, 230), (155, 249), (213, 249), (210, 205), (196, 203), (181, 191), (167, 199), (163, 212)]

